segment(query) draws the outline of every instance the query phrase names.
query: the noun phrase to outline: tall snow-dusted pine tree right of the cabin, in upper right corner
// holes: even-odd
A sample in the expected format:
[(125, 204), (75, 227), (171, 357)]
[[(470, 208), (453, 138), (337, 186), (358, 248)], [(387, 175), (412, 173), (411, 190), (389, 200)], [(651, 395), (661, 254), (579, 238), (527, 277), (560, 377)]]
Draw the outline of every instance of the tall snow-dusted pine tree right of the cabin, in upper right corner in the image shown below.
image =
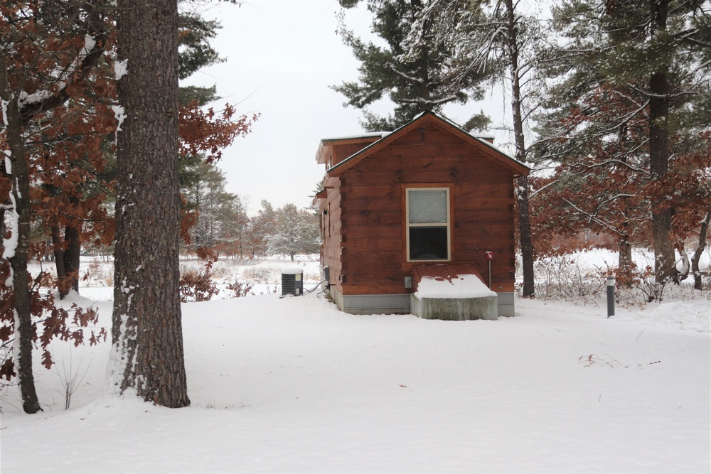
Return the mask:
[[(710, 123), (704, 105), (710, 101), (708, 5), (565, 1), (553, 9), (552, 24), (565, 44), (550, 48), (549, 72), (559, 80), (550, 90), (549, 113), (540, 117), (553, 137), (540, 153), (588, 169), (641, 171), (656, 280), (678, 280), (670, 180), (675, 157), (693, 153)], [(643, 133), (634, 133), (640, 126)], [(583, 148), (591, 139), (607, 152)], [(625, 198), (619, 195), (622, 207)]]

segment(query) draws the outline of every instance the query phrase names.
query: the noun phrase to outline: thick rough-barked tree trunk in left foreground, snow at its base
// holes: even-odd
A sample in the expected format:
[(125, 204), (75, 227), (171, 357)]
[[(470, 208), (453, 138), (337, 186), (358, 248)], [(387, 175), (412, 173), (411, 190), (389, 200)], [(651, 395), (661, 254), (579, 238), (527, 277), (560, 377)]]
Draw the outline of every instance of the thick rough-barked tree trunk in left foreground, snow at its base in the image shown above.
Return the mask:
[(119, 0), (118, 133), (109, 387), (188, 406), (180, 307), (178, 10), (176, 0)]

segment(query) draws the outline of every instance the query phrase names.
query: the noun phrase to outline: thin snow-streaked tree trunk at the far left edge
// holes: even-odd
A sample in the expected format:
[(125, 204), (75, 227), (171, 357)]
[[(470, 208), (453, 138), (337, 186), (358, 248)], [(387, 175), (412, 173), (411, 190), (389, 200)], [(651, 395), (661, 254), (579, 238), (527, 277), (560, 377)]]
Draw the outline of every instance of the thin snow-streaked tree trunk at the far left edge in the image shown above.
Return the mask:
[(7, 65), (4, 55), (0, 54), (0, 97), (4, 101), (6, 115), (6, 138), (11, 156), (11, 200), (13, 201), (16, 221), (12, 232), (17, 239), (14, 249), (5, 249), (6, 257), (12, 268), (12, 289), (15, 306), (15, 341), (16, 372), (22, 396), (22, 408), (26, 413), (41, 410), (35, 389), (32, 372), (33, 325), (31, 317), (30, 288), (28, 285), (27, 257), (30, 250), (30, 176), (18, 97), (10, 92), (7, 79)]

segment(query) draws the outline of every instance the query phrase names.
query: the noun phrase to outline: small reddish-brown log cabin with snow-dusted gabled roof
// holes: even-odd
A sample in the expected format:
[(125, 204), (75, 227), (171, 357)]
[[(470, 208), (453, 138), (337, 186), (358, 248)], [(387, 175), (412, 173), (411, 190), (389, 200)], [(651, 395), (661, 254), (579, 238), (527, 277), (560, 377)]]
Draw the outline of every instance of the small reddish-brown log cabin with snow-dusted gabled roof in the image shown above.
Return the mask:
[[(392, 132), (324, 139), (316, 161), (326, 166), (314, 197), (321, 268), (341, 311), (514, 316), (514, 180), (528, 166), (432, 112)], [(483, 293), (423, 304), (424, 279), (429, 288), (471, 275)], [(488, 309), (461, 304), (477, 297)]]

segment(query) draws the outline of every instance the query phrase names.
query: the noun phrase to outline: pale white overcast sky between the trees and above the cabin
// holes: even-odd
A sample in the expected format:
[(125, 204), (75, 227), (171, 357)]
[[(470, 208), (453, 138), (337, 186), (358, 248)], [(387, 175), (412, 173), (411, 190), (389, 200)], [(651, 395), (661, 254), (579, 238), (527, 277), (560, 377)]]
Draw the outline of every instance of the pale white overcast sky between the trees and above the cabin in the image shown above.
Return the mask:
[[(227, 60), (181, 85), (216, 85), (240, 114), (261, 114), (251, 134), (223, 151), (219, 166), (228, 192), (247, 196), (252, 212), (262, 199), (274, 207), (309, 206), (325, 171), (315, 160), (320, 140), (362, 131), (361, 112), (344, 108), (344, 97), (329, 89), (358, 77), (358, 61), (336, 34), (338, 1), (248, 0), (240, 7), (215, 1), (200, 11), (222, 23), (213, 47)], [(346, 11), (346, 24), (359, 36), (370, 35), (365, 8)], [(220, 102), (213, 107), (220, 109)], [(503, 101), (492, 97), (447, 114), (464, 118), (482, 108), (500, 114)], [(387, 104), (374, 110), (392, 112)]]

